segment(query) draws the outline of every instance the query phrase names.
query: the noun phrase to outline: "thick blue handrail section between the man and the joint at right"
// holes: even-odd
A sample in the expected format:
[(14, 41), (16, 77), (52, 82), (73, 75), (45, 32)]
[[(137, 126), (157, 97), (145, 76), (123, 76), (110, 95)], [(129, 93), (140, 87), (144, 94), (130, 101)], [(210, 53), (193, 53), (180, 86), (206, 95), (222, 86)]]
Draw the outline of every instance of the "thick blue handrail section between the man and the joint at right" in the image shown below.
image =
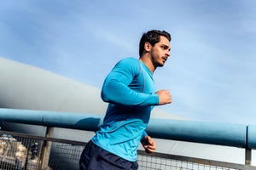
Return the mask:
[(245, 125), (152, 119), (147, 131), (149, 135), (161, 139), (236, 147), (245, 147), (247, 143)]

